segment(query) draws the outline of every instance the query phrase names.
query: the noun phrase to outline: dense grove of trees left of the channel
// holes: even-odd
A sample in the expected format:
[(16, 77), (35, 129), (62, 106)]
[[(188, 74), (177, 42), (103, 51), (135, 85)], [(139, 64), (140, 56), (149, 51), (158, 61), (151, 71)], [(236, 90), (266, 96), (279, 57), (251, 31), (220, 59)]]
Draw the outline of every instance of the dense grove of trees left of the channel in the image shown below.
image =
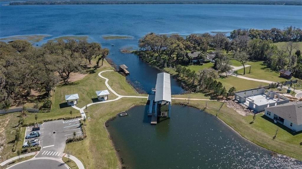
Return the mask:
[(99, 64), (108, 53), (98, 43), (73, 39), (48, 41), (41, 47), (25, 40), (0, 42), (0, 109), (32, 90), (49, 96), (60, 82), (68, 83), (71, 73), (85, 73), (93, 58), (99, 57)]

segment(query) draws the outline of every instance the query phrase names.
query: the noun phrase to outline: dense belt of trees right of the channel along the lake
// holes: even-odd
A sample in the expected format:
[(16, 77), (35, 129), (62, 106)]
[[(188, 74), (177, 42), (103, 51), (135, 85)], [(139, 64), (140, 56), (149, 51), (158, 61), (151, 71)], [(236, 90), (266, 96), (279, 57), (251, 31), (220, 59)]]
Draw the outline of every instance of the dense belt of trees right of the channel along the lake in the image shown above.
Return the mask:
[[(295, 27), (287, 27), (284, 30), (238, 29), (232, 31), (230, 36), (224, 33), (191, 34), (186, 37), (177, 34), (167, 36), (149, 33), (139, 40), (138, 55), (152, 63), (156, 62), (159, 68), (176, 68), (179, 76), (185, 77), (189, 82), (194, 81), (195, 84), (198, 84), (195, 79), (204, 76), (202, 75), (204, 72), (198, 72), (198, 77), (195, 77), (190, 70), (180, 69), (178, 65), (193, 64), (191, 62), (193, 58), (188, 55), (191, 51), (200, 51), (198, 59), (205, 60), (209, 49), (214, 49), (216, 54), (213, 68), (225, 73), (226, 76), (227, 72), (232, 70), (230, 59), (235, 59), (243, 65), (244, 74), (247, 61), (256, 60), (264, 61), (272, 70), (291, 70), (296, 77), (302, 78), (302, 57), (297, 44), (294, 43), (301, 40), (302, 31)], [(278, 48), (273, 42), (286, 43)], [(204, 91), (207, 90), (204, 84), (212, 83), (215, 78), (217, 77), (205, 78), (206, 81), (199, 80), (203, 83), (199, 83), (199, 86), (192, 83), (188, 86), (192, 86), (190, 88), (193, 91)]]

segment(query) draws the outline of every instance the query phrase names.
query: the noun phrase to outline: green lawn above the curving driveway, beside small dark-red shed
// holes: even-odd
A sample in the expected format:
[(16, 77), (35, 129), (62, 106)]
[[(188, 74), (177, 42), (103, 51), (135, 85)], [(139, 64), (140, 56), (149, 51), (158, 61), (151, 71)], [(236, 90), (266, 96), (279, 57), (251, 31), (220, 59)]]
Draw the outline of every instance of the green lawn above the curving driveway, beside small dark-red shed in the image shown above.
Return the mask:
[[(240, 69), (237, 71), (239, 75), (273, 82), (282, 82), (287, 80), (279, 77), (280, 73), (268, 68), (263, 61), (249, 61), (247, 64), (251, 65), (251, 73), (249, 73), (249, 67), (247, 67), (246, 74), (243, 75), (243, 69)], [(293, 77), (292, 79), (296, 78)]]

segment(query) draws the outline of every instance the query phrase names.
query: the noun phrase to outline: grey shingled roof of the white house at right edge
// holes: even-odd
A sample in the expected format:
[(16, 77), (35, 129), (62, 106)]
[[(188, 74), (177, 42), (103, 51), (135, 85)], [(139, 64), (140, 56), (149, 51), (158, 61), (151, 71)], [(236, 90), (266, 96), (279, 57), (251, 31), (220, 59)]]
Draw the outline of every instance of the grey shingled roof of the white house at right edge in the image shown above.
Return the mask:
[(302, 102), (289, 102), (265, 108), (290, 122), (302, 125)]

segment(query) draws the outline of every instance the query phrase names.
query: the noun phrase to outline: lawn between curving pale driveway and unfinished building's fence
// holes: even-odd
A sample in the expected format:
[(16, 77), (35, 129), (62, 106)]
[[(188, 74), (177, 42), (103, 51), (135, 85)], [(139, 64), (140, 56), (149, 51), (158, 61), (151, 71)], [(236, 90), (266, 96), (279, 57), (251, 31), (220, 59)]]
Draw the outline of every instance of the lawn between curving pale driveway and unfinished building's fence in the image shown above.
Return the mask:
[(237, 91), (268, 85), (268, 83), (256, 82), (256, 81), (241, 79), (233, 76), (220, 77), (219, 79), (217, 79), (217, 81), (221, 82), (223, 86), (226, 87), (226, 90), (229, 90), (231, 87), (234, 86)]

